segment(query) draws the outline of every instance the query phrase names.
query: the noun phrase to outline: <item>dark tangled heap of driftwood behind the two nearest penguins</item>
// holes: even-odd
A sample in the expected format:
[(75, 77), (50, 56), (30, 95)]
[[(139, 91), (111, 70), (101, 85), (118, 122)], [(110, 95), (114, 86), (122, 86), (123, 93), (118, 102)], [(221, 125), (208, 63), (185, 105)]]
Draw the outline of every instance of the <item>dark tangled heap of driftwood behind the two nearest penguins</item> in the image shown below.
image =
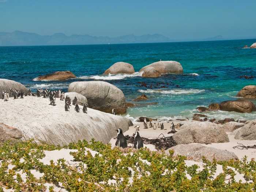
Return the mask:
[[(134, 137), (126, 135), (127, 143), (134, 143)], [(142, 137), (144, 144), (153, 144), (157, 150), (166, 150), (176, 145), (173, 141), (172, 136), (165, 137), (162, 133), (156, 139), (148, 139)]]

